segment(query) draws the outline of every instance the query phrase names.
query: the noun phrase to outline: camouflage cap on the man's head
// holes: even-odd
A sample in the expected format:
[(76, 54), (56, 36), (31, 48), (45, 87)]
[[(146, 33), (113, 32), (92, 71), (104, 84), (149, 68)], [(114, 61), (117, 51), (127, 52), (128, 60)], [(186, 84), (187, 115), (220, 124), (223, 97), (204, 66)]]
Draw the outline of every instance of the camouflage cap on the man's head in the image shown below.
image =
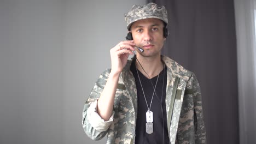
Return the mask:
[(155, 3), (148, 3), (147, 5), (133, 5), (130, 11), (125, 14), (125, 21), (127, 22), (127, 29), (130, 29), (131, 24), (138, 20), (156, 18), (164, 21), (168, 25), (167, 10), (164, 6), (158, 7)]

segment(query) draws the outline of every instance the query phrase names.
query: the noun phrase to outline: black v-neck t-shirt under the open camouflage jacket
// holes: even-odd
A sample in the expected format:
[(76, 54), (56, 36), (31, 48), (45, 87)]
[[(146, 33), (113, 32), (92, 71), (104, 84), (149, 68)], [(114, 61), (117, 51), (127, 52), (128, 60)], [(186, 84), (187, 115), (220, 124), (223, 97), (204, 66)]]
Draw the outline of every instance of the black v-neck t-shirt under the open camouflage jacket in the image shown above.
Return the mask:
[[(138, 111), (137, 111), (137, 119), (136, 119), (136, 136), (135, 143), (170, 143), (167, 129), (167, 118), (166, 118), (166, 105), (165, 105), (165, 97), (166, 97), (166, 67), (162, 70), (158, 76), (155, 76), (151, 79), (151, 82), (155, 86), (156, 80), (158, 79), (158, 83), (155, 88), (155, 93), (152, 106), (150, 111), (153, 112), (153, 133), (146, 133), (146, 112), (148, 111), (148, 107), (150, 106), (150, 102), (152, 99), (152, 95), (154, 92), (154, 88), (150, 80), (144, 76), (141, 71), (138, 70), (139, 78), (141, 79), (142, 87), (145, 93), (145, 97), (147, 99), (148, 107), (142, 92), (141, 84), (139, 83), (138, 74), (136, 71), (135, 61), (132, 62), (130, 70), (133, 73), (133, 76), (136, 80), (137, 87), (137, 100), (138, 100)], [(163, 93), (162, 93), (163, 92)]]

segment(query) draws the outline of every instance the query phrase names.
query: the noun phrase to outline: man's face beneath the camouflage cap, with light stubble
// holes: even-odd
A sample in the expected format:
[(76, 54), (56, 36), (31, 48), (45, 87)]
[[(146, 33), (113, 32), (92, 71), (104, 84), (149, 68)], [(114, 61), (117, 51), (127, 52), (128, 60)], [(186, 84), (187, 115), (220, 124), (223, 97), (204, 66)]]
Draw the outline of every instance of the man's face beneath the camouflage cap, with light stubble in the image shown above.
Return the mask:
[[(144, 19), (132, 23), (131, 33), (136, 46), (144, 49), (139, 55), (153, 57), (160, 55), (164, 46), (164, 22), (159, 19)], [(136, 49), (137, 50), (137, 49)]]

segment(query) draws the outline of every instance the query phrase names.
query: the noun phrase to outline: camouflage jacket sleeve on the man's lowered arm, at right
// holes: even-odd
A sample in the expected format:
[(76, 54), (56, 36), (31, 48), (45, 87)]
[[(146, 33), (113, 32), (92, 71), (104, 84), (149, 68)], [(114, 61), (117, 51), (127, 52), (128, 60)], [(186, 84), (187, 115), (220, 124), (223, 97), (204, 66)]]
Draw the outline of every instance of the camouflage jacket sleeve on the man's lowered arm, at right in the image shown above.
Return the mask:
[(206, 143), (201, 90), (193, 73), (185, 89), (176, 140), (177, 143)]

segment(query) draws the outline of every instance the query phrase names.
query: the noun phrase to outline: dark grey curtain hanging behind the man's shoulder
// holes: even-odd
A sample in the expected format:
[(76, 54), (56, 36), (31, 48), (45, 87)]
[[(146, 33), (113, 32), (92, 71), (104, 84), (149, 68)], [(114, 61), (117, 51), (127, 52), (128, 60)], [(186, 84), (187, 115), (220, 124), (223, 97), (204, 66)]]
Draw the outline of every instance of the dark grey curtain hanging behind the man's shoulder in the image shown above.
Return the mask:
[(162, 54), (199, 80), (207, 143), (239, 143), (234, 1), (147, 2), (168, 11), (170, 35)]

